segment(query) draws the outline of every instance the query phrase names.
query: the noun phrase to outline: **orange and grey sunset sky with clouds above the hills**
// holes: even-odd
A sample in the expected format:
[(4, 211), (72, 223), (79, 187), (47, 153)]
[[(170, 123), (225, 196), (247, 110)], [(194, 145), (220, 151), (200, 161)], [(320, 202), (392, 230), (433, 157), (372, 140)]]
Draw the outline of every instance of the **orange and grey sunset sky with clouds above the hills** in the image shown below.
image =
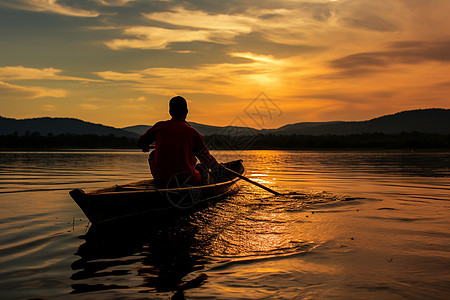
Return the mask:
[[(0, 115), (151, 125), (175, 95), (188, 120), (255, 128), (450, 108), (449, 12), (449, 0), (0, 0)], [(248, 114), (261, 92), (264, 124)]]

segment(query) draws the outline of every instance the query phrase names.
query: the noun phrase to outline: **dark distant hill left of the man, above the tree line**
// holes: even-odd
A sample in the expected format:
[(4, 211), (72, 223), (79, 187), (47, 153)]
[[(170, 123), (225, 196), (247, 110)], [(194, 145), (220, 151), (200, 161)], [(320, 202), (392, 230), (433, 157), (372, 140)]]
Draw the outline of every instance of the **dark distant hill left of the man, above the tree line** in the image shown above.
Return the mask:
[(40, 135), (59, 134), (94, 134), (114, 135), (117, 137), (137, 137), (122, 129), (94, 124), (72, 118), (34, 118), (12, 119), (0, 117), (0, 135), (17, 133), (18, 135), (39, 133)]

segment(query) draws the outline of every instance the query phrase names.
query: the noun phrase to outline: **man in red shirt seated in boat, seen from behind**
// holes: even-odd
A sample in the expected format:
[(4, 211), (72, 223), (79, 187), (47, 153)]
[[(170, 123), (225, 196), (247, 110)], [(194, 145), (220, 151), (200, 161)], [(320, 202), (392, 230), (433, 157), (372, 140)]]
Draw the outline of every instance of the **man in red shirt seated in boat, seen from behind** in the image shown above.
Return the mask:
[[(181, 96), (169, 101), (170, 120), (153, 125), (138, 140), (138, 147), (149, 152), (155, 142), (155, 150), (150, 153), (149, 165), (153, 178), (168, 182), (175, 176), (189, 184), (209, 183), (208, 170), (219, 167), (209, 153), (200, 133), (186, 122), (187, 102)], [(196, 157), (201, 166), (196, 168)], [(200, 169), (203, 173), (199, 172)]]

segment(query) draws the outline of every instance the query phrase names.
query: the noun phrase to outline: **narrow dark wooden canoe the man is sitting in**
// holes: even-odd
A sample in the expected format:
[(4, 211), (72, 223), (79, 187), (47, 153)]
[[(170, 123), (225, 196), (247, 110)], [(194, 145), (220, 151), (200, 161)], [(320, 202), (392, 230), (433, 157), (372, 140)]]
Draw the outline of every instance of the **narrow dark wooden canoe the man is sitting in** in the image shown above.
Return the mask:
[[(242, 160), (224, 165), (244, 173)], [(176, 180), (156, 184), (149, 179), (91, 191), (74, 189), (69, 194), (94, 225), (139, 216), (157, 218), (192, 211), (237, 192), (238, 176), (224, 170), (212, 175), (211, 181), (215, 183), (208, 185), (192, 186)]]

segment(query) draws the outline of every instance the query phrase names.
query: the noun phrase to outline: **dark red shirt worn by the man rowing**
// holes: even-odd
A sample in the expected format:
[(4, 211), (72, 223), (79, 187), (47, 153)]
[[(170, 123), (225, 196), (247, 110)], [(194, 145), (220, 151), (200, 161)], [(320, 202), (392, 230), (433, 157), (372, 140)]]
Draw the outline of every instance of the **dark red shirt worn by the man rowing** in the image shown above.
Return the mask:
[(217, 166), (216, 159), (209, 153), (200, 133), (184, 120), (171, 119), (156, 123), (139, 138), (138, 146), (142, 148), (154, 141), (151, 171), (155, 179), (167, 181), (177, 174), (199, 178), (200, 174), (195, 170), (195, 157), (208, 168)]

